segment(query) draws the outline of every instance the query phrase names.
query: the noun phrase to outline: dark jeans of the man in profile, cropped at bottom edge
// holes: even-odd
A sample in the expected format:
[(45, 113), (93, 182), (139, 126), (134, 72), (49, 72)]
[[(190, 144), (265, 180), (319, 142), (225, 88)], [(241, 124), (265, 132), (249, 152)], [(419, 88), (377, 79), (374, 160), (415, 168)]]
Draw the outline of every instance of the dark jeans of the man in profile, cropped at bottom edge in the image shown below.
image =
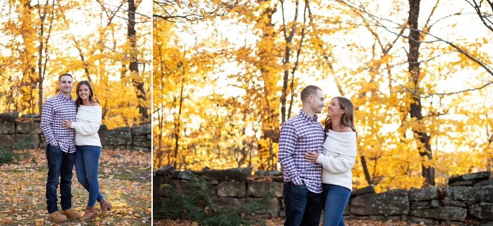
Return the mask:
[(308, 191), (305, 184), (285, 182), (282, 194), (286, 206), (284, 226), (319, 226), (322, 213), (322, 193)]

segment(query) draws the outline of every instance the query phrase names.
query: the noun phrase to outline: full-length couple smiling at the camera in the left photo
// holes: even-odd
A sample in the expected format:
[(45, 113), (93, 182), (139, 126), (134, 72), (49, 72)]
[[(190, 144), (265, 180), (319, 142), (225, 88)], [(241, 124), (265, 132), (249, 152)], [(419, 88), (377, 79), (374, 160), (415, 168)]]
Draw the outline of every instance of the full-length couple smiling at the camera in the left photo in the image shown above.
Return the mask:
[[(99, 192), (98, 167), (102, 145), (98, 130), (101, 126), (102, 108), (94, 100), (89, 82), (77, 84), (75, 100), (70, 94), (73, 88), (70, 74), (60, 75), (58, 86), (58, 95), (48, 98), (43, 104), (40, 123), (40, 129), (46, 137), (48, 215), (55, 222), (63, 222), (67, 217), (77, 219), (81, 216), (71, 207), (72, 169), (75, 165), (77, 180), (89, 192), (82, 220), (90, 220), (96, 215), (96, 200), (101, 204), (101, 215), (112, 208), (111, 203)], [(61, 212), (57, 206), (59, 184)]]

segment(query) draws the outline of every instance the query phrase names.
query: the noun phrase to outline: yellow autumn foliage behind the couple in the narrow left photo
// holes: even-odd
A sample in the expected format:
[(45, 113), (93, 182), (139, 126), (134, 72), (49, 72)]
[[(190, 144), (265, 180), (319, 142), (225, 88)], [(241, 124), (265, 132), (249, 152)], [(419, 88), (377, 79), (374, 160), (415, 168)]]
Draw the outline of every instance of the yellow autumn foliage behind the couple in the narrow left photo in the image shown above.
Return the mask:
[[(149, 123), (151, 8), (150, 1), (138, 1), (131, 10), (138, 25), (128, 26), (133, 3), (2, 1), (0, 113), (40, 113), (59, 91), (58, 76), (70, 73), (72, 97), (78, 82), (89, 81), (108, 128)], [(128, 36), (131, 27), (135, 39)]]

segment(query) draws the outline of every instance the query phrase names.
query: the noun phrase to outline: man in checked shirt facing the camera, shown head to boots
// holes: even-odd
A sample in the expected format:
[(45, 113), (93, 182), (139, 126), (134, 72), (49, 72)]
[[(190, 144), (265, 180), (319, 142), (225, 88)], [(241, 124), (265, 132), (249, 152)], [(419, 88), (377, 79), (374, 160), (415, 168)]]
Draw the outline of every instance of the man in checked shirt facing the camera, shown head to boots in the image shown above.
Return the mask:
[[(46, 205), (50, 218), (56, 222), (64, 222), (67, 217), (79, 218), (72, 206), (72, 169), (75, 162), (74, 129), (64, 128), (62, 121), (75, 120), (75, 101), (70, 95), (73, 88), (72, 76), (62, 74), (58, 78), (60, 92), (48, 98), (41, 113), (41, 126), (46, 137), (46, 160), (48, 161), (48, 178), (46, 182)], [(60, 184), (60, 205), (57, 207), (57, 188)]]

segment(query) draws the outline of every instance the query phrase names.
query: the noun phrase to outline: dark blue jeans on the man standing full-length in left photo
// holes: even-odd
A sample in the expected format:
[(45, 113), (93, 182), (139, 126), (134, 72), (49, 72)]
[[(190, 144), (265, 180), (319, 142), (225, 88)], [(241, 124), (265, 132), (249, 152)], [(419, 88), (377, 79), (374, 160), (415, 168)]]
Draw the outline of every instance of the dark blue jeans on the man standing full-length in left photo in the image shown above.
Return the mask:
[[(69, 150), (70, 151), (70, 150)], [(48, 161), (48, 178), (46, 179), (46, 206), (48, 213), (58, 211), (57, 188), (60, 184), (60, 204), (62, 210), (72, 208), (72, 170), (75, 153), (66, 153), (60, 146), (46, 144), (46, 160)]]

